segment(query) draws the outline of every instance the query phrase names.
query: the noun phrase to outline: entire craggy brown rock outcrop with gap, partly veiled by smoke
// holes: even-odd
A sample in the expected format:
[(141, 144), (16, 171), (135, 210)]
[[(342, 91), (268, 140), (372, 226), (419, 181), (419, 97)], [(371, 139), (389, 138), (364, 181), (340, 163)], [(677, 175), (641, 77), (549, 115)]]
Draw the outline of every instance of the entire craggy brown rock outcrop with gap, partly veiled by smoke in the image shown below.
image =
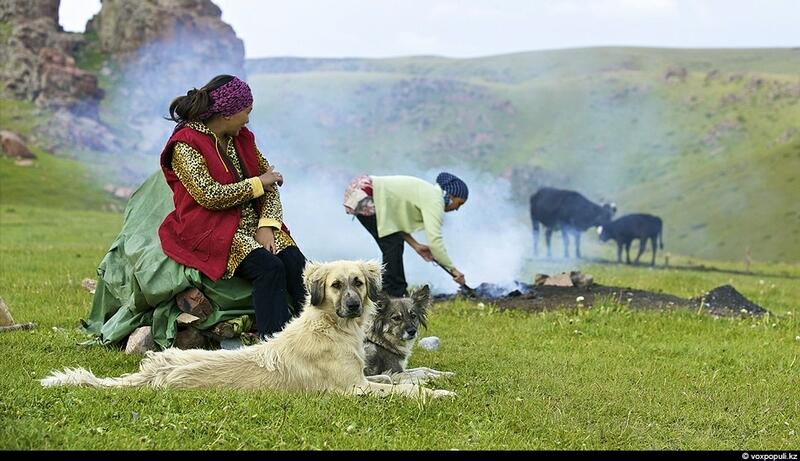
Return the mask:
[[(34, 141), (157, 154), (172, 98), (217, 74), (244, 76), (244, 43), (211, 0), (103, 0), (86, 33), (64, 32), (60, 0), (0, 0), (0, 93), (54, 111)], [(76, 66), (80, 51), (105, 59), (107, 94)], [(111, 113), (100, 117), (101, 99)], [(115, 120), (118, 134), (100, 122)], [(119, 132), (125, 131), (119, 138)]]

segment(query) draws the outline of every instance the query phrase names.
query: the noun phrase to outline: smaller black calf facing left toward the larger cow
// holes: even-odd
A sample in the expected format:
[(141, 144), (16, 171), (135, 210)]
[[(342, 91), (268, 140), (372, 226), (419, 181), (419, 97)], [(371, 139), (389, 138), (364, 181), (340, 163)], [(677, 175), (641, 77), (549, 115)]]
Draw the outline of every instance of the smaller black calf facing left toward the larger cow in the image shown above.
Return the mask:
[(664, 249), (664, 234), (662, 233), (661, 218), (649, 214), (629, 214), (616, 219), (605, 226), (597, 228), (600, 240), (606, 242), (613, 239), (617, 242), (617, 262), (622, 262), (622, 246), (625, 245), (625, 260), (631, 263), (631, 243), (639, 239), (639, 254), (636, 255), (636, 264), (642, 257), (647, 246), (647, 240), (653, 241), (653, 260), (651, 266), (656, 264), (656, 239), (661, 241), (660, 248)]

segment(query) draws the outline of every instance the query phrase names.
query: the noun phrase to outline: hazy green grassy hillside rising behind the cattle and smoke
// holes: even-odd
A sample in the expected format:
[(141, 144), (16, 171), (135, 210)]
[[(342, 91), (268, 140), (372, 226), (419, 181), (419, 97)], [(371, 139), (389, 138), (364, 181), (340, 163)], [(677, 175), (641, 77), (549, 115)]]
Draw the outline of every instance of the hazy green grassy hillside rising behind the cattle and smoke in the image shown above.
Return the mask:
[[(262, 143), (352, 171), (450, 166), (665, 221), (687, 255), (800, 260), (800, 50), (594, 48), (248, 63)], [(479, 188), (476, 189), (480, 193)]]

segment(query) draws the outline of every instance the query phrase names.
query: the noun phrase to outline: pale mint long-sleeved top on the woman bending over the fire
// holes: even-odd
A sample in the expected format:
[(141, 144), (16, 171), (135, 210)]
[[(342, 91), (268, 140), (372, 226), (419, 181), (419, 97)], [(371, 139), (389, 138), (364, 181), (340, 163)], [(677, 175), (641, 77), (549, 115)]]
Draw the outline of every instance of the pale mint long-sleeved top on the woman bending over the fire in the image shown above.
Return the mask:
[(455, 266), (442, 239), (444, 195), (438, 184), (413, 176), (371, 176), (378, 236), (425, 229), (433, 257), (448, 269)]

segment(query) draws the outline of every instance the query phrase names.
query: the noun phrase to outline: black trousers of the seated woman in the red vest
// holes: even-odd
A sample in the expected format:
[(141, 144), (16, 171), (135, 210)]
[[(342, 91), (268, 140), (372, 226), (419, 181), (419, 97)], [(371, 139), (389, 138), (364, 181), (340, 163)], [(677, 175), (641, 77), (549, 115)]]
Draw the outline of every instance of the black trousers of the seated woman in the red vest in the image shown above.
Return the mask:
[[(253, 284), (253, 307), (259, 336), (277, 333), (305, 299), (303, 286), (305, 257), (297, 247), (274, 255), (264, 248), (250, 252), (236, 268), (235, 275)], [(287, 293), (292, 297), (291, 307)]]

